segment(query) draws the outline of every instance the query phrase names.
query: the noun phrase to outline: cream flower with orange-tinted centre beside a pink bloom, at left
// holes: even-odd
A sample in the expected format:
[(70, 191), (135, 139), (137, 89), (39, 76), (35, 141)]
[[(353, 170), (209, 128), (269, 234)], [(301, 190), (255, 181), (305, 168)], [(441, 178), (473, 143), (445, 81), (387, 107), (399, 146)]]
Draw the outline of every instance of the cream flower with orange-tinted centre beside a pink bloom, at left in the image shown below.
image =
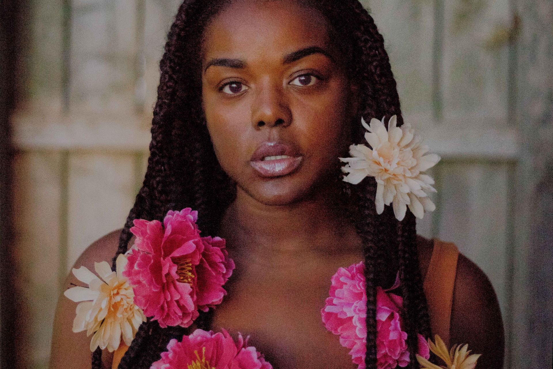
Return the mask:
[(122, 272), (127, 264), (127, 257), (119, 254), (116, 261), (116, 271), (113, 272), (105, 261), (94, 263), (96, 273), (103, 280), (85, 267), (73, 268), (73, 274), (86, 287), (72, 287), (64, 295), (77, 305), (77, 315), (73, 321), (73, 331), (92, 336), (90, 350), (98, 346), (109, 352), (117, 350), (121, 337), (127, 346), (136, 334), (138, 327), (146, 321), (144, 313), (134, 304), (134, 293)]

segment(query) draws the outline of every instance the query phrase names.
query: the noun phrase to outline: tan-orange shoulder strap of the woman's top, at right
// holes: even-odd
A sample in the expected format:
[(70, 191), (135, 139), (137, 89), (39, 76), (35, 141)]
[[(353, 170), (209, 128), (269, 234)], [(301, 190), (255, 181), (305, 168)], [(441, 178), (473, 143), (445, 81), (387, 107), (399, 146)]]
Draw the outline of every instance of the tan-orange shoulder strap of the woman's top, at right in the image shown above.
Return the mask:
[(459, 250), (453, 242), (438, 238), (433, 240), (434, 249), (422, 287), (428, 303), (432, 336), (439, 335), (446, 346), (449, 346), (453, 286)]

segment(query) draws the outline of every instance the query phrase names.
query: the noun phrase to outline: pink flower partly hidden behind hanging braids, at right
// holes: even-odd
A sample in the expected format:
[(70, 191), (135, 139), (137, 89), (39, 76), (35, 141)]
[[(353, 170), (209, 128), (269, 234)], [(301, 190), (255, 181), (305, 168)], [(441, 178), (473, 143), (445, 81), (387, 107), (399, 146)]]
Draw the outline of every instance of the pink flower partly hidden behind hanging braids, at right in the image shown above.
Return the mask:
[[(396, 288), (398, 283), (394, 284)], [(331, 278), (330, 297), (321, 309), (322, 321), (328, 331), (340, 335), (340, 344), (348, 349), (358, 369), (365, 368), (367, 351), (367, 295), (365, 292), (364, 263), (338, 268)], [(377, 368), (405, 367), (409, 351), (401, 330), (403, 298), (377, 287)], [(419, 355), (430, 357), (429, 347), (419, 334)], [(424, 344), (422, 343), (424, 341)]]

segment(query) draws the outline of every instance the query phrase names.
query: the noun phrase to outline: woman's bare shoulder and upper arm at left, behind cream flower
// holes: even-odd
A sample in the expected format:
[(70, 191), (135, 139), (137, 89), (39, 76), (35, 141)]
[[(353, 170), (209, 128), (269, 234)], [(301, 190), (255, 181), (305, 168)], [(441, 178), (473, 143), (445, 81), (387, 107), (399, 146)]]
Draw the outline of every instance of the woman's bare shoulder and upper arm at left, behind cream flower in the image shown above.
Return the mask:
[[(84, 266), (93, 272), (95, 262), (107, 261), (111, 264), (112, 258), (117, 252), (120, 234), (121, 230), (113, 231), (93, 242), (77, 259), (74, 267)], [(69, 272), (65, 279), (64, 290), (74, 285), (83, 285), (83, 283)], [(50, 369), (90, 368), (92, 355), (90, 340), (92, 337), (87, 337), (86, 331), (79, 333), (72, 331), (76, 306), (77, 303), (60, 294), (54, 316)], [(112, 357), (112, 354), (104, 350), (102, 353), (103, 367), (111, 367)]]

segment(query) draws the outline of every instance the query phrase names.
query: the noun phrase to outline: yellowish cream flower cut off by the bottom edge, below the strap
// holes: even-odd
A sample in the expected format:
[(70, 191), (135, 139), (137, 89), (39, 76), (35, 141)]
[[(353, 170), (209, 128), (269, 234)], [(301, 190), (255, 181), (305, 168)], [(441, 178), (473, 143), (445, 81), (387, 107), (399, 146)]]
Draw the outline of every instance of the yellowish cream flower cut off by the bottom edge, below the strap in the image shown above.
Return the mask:
[(439, 335), (436, 335), (436, 344), (433, 344), (430, 339), (428, 344), (430, 351), (434, 352), (436, 356), (444, 360), (446, 366), (437, 366), (432, 364), (420, 355), (416, 355), (416, 360), (419, 361), (421, 369), (474, 369), (476, 367), (476, 361), (481, 354), (472, 354), (471, 350), (467, 351), (468, 345), (455, 345), (451, 347), (448, 352), (444, 341), (440, 339)]

